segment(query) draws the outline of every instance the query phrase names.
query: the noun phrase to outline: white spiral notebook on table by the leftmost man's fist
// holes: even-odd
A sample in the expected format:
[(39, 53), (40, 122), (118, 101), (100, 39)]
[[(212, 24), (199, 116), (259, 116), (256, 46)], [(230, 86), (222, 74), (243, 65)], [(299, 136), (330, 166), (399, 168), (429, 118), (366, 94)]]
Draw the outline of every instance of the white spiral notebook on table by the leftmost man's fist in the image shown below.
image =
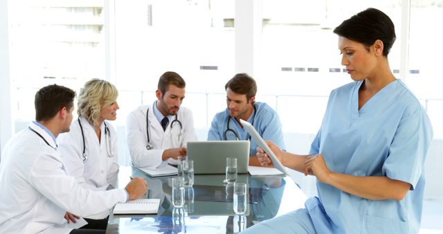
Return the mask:
[(136, 199), (119, 202), (114, 207), (114, 215), (127, 214), (156, 214), (159, 210), (160, 199)]

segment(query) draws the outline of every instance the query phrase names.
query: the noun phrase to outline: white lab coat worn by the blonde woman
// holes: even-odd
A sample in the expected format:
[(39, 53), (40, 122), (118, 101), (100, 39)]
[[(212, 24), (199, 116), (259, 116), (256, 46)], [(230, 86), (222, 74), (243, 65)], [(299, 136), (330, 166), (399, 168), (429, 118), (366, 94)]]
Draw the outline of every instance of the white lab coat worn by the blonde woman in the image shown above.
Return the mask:
[[(116, 188), (118, 175), (117, 134), (114, 127), (107, 123), (110, 135), (105, 137), (105, 124), (100, 126), (100, 142), (93, 126), (80, 117), (83, 127), (85, 153), (87, 160), (83, 161), (83, 138), (78, 119), (71, 124), (71, 129), (57, 138), (60, 154), (69, 174), (75, 177), (84, 188), (106, 190), (109, 185)], [(108, 150), (109, 154), (108, 155)]]

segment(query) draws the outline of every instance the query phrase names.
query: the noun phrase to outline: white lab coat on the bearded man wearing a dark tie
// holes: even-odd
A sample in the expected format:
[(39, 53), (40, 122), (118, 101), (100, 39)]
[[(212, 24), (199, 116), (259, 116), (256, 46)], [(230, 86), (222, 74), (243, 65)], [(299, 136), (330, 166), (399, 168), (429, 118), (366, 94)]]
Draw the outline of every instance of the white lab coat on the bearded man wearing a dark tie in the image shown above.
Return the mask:
[[(161, 124), (152, 109), (154, 108), (154, 104), (138, 107), (127, 116), (127, 145), (129, 147), (132, 163), (136, 167), (156, 168), (162, 163), (161, 156), (164, 150), (174, 147), (186, 147), (188, 141), (197, 141), (197, 135), (195, 134), (194, 129), (194, 119), (192, 118), (192, 111), (190, 111), (190, 109), (180, 107), (177, 112), (177, 119), (183, 126), (183, 143), (181, 145), (173, 145), (170, 127), (175, 116), (170, 120), (165, 131), (163, 131), (163, 127), (161, 127)], [(146, 149), (146, 112), (148, 107), (150, 108), (148, 116), (150, 124), (150, 142), (154, 145), (153, 150)], [(174, 134), (174, 137), (177, 138), (175, 135), (176, 134)]]

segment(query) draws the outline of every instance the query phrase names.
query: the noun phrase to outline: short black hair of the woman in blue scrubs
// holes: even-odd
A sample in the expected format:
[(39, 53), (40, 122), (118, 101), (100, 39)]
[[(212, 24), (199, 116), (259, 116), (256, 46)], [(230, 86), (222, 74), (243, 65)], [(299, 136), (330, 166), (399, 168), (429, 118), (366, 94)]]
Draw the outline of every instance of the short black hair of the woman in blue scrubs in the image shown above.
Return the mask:
[(388, 57), (395, 42), (392, 20), (381, 10), (368, 8), (346, 19), (334, 29), (334, 33), (365, 46), (372, 46), (377, 39), (383, 42), (383, 56)]

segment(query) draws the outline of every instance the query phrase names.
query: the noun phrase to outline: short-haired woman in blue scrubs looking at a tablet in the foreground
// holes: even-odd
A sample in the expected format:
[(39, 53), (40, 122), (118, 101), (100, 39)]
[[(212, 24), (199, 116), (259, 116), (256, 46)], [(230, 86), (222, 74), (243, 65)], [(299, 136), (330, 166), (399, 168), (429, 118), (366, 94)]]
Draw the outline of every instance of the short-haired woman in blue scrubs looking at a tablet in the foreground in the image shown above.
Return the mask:
[[(283, 165), (317, 179), (305, 208), (245, 233), (418, 233), (432, 127), (419, 100), (392, 74), (390, 18), (368, 8), (334, 29), (352, 80), (333, 90), (309, 155), (269, 142)], [(259, 150), (262, 165), (271, 159)]]

